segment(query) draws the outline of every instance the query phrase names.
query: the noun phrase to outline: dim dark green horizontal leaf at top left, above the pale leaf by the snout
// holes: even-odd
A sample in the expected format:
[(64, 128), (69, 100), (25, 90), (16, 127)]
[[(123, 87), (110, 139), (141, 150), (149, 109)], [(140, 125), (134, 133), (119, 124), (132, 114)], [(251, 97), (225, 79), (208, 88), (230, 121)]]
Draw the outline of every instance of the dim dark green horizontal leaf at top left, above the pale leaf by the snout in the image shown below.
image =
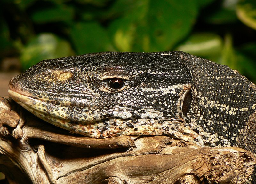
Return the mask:
[(74, 17), (74, 10), (70, 6), (58, 4), (54, 7), (42, 8), (32, 13), (32, 20), (42, 24), (48, 22), (70, 21)]

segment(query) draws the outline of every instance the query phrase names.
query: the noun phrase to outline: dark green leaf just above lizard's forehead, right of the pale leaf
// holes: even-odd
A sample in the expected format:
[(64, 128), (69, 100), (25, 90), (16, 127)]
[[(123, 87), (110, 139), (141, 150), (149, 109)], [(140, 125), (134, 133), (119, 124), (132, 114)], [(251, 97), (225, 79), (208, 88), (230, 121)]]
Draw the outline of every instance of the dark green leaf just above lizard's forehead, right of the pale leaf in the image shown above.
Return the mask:
[(70, 36), (77, 54), (114, 51), (106, 30), (97, 22), (74, 24)]

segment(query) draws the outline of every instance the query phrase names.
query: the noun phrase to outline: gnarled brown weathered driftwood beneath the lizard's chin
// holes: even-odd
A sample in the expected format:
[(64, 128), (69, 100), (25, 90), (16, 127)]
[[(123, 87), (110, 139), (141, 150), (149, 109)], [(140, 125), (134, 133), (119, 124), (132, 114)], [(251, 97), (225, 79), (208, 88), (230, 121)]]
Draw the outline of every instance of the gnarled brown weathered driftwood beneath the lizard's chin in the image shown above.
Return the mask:
[[(70, 134), (0, 98), (0, 171), (22, 183), (244, 183), (256, 158), (164, 136)], [(25, 118), (25, 119), (24, 119)]]

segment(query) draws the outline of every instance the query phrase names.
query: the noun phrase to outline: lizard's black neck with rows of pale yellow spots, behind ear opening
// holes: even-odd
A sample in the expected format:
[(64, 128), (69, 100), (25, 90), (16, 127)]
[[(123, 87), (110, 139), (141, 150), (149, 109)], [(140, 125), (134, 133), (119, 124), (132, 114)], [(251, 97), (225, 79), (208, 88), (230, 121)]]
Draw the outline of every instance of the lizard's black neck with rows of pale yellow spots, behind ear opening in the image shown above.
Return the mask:
[(210, 146), (218, 143), (246, 149), (244, 142), (236, 141), (254, 111), (255, 85), (228, 66), (188, 54), (183, 59), (189, 61), (187, 66), (194, 81), (188, 113), (191, 127), (205, 136), (204, 142)]

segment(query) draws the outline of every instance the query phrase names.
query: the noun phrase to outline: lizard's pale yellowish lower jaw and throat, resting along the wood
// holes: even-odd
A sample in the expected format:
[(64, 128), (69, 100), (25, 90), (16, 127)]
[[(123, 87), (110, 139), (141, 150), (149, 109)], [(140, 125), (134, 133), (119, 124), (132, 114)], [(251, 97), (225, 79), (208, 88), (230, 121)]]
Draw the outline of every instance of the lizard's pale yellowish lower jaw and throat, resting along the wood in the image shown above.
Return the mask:
[[(81, 134), (92, 138), (108, 138), (122, 135), (169, 135), (185, 141), (195, 142), (200, 146), (203, 145), (200, 136), (189, 127), (181, 126), (177, 129), (176, 125), (178, 122), (168, 120), (158, 122), (156, 119), (128, 120), (121, 118), (101, 119), (98, 121), (92, 121), (90, 123), (84, 123), (82, 121), (75, 122), (65, 117), (61, 117), (61, 114), (63, 114), (63, 116), (66, 115), (65, 111), (67, 111), (67, 109), (65, 109), (65, 111), (61, 111), (61, 105), (50, 104), (35, 98), (31, 98), (11, 89), (9, 89), (8, 92), (18, 104), (35, 114), (37, 117), (76, 134)], [(54, 106), (55, 111), (44, 112), (42, 108), (47, 108), (47, 105)], [(67, 108), (67, 106), (65, 108)], [(56, 116), (56, 113), (60, 113), (60, 115)], [(133, 124), (133, 121), (136, 121), (135, 124), (139, 126), (127, 126), (129, 123)], [(107, 126), (105, 126), (106, 123), (108, 124)], [(197, 141), (194, 141), (194, 139), (197, 139)]]

